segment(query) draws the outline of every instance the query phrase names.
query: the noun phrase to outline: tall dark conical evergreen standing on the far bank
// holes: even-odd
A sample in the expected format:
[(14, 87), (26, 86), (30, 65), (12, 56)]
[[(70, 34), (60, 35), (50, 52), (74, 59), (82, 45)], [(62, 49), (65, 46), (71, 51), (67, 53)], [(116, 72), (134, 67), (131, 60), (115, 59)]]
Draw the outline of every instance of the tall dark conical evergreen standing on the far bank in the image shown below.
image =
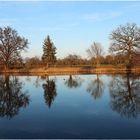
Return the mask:
[(50, 40), (50, 37), (48, 36), (44, 40), (43, 44), (43, 55), (42, 55), (42, 61), (44, 64), (47, 64), (49, 66), (50, 64), (54, 64), (56, 62), (56, 47), (54, 46), (53, 42)]

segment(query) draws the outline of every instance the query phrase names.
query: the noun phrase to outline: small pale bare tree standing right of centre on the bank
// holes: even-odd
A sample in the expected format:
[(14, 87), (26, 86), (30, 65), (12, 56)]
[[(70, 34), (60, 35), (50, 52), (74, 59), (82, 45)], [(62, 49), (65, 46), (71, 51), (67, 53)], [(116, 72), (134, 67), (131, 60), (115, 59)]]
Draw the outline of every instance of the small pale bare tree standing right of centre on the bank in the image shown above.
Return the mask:
[(99, 66), (101, 62), (101, 56), (103, 55), (103, 49), (100, 43), (94, 42), (89, 49), (87, 49), (89, 57), (96, 59), (96, 65)]

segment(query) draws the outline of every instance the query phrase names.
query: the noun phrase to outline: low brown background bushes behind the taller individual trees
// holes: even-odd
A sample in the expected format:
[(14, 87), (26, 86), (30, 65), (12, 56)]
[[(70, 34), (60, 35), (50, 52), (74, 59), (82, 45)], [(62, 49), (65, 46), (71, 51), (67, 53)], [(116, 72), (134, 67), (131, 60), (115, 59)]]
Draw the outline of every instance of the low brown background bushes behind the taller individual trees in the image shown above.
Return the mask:
[[(125, 55), (107, 55), (102, 56), (100, 58), (100, 67), (106, 66), (118, 66), (118, 67), (125, 67), (126, 65), (127, 56)], [(134, 56), (133, 66), (140, 66), (140, 55)], [(41, 58), (39, 57), (31, 57), (24, 59), (21, 63), (15, 63), (10, 66), (11, 69), (16, 68), (41, 68), (46, 66)], [(68, 55), (63, 59), (57, 59), (55, 64), (50, 65), (50, 67), (96, 67), (96, 58), (85, 59), (79, 55)]]

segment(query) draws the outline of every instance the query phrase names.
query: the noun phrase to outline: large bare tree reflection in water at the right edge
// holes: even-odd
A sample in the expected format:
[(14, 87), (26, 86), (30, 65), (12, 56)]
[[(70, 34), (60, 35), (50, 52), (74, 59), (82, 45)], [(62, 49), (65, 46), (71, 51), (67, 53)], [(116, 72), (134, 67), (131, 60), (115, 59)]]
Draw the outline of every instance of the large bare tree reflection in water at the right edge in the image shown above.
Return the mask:
[(140, 113), (140, 80), (127, 74), (114, 77), (110, 84), (111, 108), (121, 116), (135, 118)]

